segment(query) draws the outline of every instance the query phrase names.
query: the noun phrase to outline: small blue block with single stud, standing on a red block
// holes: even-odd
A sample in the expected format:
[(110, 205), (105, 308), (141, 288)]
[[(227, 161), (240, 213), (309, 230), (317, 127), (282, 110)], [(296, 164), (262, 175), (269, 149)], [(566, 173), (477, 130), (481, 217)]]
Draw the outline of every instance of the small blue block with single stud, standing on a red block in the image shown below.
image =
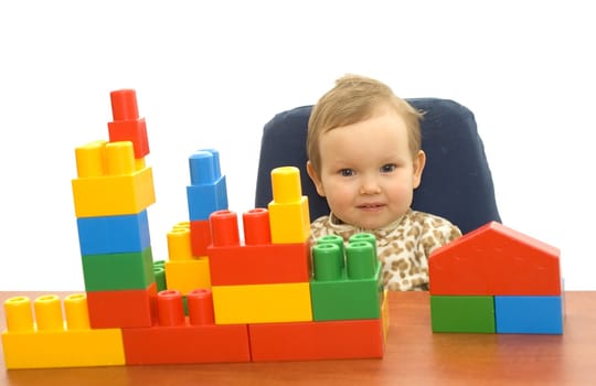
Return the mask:
[(225, 175), (221, 175), (220, 156), (214, 150), (195, 151), (189, 158), (191, 184), (187, 186), (190, 221), (207, 219), (215, 211), (227, 208)]

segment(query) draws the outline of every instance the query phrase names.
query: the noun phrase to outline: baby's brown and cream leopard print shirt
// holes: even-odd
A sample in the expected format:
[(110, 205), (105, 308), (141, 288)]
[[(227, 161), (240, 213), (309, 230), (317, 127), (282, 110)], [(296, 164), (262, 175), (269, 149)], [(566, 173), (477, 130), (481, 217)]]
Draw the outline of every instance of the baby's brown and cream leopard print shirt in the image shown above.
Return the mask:
[[(362, 232), (343, 224), (332, 213), (310, 224), (310, 242), (324, 235), (339, 235), (345, 242)], [(461, 236), (461, 230), (443, 217), (408, 210), (390, 225), (372, 230), (377, 258), (383, 265), (383, 285), (390, 291), (428, 290), (428, 256), (436, 248)]]

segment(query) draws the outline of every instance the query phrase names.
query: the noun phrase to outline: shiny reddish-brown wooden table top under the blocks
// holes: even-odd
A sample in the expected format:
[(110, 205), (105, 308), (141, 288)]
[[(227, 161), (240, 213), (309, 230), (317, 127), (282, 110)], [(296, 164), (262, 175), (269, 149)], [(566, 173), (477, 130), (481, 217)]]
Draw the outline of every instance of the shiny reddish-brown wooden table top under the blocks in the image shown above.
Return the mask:
[(389, 299), (383, 360), (6, 371), (0, 357), (0, 385), (596, 385), (596, 292), (566, 292), (563, 335), (433, 334), (427, 292)]

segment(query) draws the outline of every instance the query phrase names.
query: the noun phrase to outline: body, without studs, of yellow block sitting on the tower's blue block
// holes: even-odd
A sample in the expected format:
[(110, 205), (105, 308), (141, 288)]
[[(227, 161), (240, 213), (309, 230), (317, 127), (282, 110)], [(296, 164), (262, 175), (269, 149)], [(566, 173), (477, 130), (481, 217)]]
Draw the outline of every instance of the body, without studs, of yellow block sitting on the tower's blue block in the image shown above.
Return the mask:
[(75, 179), (72, 185), (77, 218), (137, 214), (156, 202), (149, 167), (124, 175)]

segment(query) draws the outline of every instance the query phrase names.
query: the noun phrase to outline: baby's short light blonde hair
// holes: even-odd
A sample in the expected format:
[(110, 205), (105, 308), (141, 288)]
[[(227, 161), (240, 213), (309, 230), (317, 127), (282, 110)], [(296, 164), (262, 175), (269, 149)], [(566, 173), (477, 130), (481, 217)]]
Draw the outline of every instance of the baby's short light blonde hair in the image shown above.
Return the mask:
[(319, 138), (322, 133), (372, 118), (380, 108), (389, 107), (400, 115), (407, 128), (412, 157), (422, 148), (421, 119), (423, 114), (393, 94), (385, 84), (360, 75), (348, 74), (338, 81), (312, 107), (308, 120), (307, 156), (320, 173)]

